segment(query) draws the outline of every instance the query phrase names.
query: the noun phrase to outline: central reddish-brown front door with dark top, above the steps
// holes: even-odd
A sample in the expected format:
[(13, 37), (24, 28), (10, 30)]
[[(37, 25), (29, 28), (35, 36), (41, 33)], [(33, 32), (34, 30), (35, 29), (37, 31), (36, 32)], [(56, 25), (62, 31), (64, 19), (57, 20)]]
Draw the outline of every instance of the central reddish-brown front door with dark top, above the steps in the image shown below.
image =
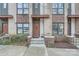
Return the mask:
[(34, 18), (33, 19), (33, 35), (34, 38), (40, 37), (40, 19)]

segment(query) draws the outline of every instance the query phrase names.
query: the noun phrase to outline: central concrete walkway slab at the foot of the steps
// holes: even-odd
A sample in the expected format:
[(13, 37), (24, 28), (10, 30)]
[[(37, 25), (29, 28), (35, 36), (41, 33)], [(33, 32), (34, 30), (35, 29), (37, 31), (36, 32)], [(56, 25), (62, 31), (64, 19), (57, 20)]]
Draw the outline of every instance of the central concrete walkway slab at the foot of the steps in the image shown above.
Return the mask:
[(44, 47), (29, 47), (24, 56), (45, 56)]

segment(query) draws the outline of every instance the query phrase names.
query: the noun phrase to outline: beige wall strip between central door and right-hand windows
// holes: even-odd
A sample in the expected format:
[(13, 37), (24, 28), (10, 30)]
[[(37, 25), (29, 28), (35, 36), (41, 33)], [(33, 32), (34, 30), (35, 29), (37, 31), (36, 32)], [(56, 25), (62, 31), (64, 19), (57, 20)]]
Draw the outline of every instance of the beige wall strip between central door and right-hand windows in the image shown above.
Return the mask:
[[(49, 15), (49, 18), (44, 19), (44, 34), (51, 36), (52, 35), (52, 11), (51, 11), (51, 4), (45, 4), (45, 14)], [(49, 7), (50, 6), (50, 7)]]

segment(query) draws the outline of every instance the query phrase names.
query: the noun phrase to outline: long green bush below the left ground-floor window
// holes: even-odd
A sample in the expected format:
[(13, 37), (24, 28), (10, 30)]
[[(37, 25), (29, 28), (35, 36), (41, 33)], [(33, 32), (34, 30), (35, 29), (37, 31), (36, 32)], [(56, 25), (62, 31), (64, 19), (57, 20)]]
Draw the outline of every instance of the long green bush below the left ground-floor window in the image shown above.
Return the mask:
[(18, 35), (12, 35), (9, 39), (0, 40), (0, 44), (8, 45), (8, 44), (14, 44), (14, 43), (20, 43), (26, 41), (27, 41), (26, 34), (18, 34)]

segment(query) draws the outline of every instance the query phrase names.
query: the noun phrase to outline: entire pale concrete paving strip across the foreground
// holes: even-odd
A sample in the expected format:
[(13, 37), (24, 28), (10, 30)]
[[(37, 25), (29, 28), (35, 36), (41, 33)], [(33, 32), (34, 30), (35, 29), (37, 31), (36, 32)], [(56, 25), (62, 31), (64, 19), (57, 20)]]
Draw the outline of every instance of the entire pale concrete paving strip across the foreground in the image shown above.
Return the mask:
[(0, 56), (79, 56), (79, 49), (0, 45)]

